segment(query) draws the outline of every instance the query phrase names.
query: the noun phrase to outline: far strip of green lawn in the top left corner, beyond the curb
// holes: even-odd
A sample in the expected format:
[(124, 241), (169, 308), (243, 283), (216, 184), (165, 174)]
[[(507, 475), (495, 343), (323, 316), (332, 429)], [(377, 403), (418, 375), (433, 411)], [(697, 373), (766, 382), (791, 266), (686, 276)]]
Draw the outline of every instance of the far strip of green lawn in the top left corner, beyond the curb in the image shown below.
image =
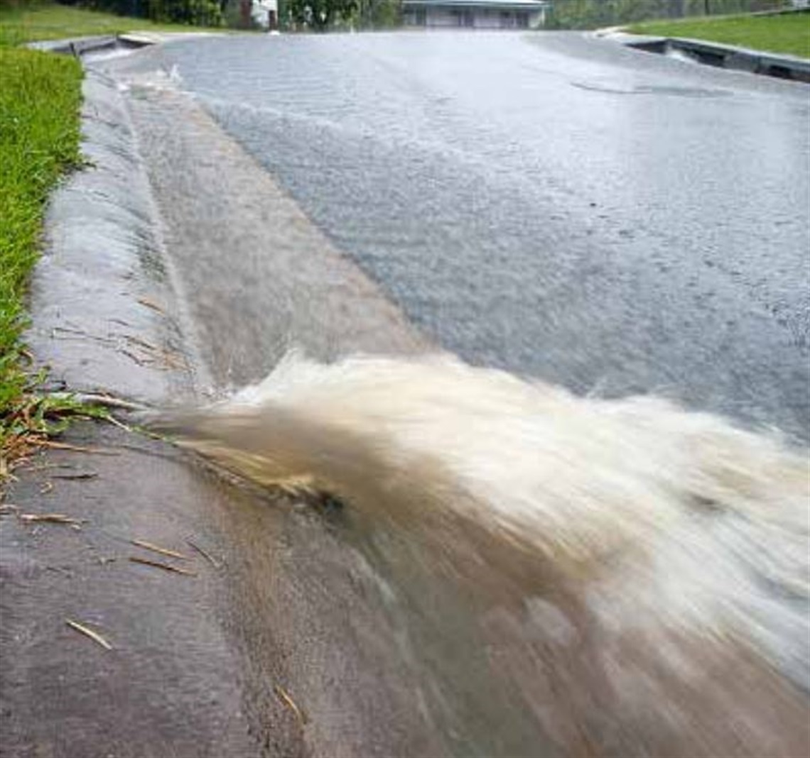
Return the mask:
[(124, 32), (224, 32), (223, 28), (152, 23), (110, 13), (83, 11), (51, 3), (0, 6), (0, 45), (23, 44), (36, 40), (123, 34)]

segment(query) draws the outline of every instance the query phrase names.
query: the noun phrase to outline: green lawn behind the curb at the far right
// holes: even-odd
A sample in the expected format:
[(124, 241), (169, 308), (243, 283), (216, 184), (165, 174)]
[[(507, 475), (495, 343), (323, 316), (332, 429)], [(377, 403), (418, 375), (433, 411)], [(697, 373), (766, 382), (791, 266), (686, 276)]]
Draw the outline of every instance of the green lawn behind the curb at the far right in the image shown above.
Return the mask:
[(627, 31), (652, 36), (689, 37), (810, 58), (810, 13), (654, 21), (633, 24)]

